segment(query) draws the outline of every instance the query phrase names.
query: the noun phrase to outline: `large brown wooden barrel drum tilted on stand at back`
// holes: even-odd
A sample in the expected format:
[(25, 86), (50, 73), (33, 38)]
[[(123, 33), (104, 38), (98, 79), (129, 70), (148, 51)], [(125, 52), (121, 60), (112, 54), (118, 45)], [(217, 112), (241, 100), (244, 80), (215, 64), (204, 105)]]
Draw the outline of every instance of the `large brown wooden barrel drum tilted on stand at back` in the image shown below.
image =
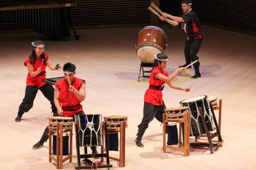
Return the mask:
[(155, 26), (143, 28), (138, 34), (136, 53), (142, 62), (154, 62), (154, 55), (164, 53), (167, 37), (164, 31)]

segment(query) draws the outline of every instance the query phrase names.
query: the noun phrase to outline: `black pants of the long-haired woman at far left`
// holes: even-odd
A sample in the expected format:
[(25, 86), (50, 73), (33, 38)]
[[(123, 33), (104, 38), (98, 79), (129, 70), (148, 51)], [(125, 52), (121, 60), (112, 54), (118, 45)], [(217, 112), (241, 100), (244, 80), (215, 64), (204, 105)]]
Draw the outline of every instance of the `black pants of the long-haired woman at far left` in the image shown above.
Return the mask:
[(43, 93), (44, 97), (50, 101), (52, 105), (52, 113), (57, 111), (53, 101), (54, 88), (52, 85), (46, 83), (40, 88), (38, 88), (38, 86), (26, 86), (25, 97), (19, 106), (19, 115), (22, 116), (25, 112), (28, 112), (33, 107), (38, 89)]

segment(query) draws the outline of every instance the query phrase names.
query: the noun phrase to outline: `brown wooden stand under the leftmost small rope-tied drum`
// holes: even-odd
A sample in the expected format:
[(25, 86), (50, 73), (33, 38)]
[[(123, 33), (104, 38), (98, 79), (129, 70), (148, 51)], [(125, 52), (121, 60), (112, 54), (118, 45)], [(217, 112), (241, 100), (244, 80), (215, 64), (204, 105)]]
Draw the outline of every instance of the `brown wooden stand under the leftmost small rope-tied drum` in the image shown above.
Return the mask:
[[(72, 122), (71, 126), (67, 129), (65, 129), (65, 126), (63, 128), (63, 123), (57, 123), (56, 130), (49, 127), (49, 162), (52, 162), (52, 160), (54, 160), (57, 163), (57, 169), (62, 169), (63, 162), (65, 162), (68, 159), (69, 163), (72, 163), (72, 128)], [(69, 132), (70, 134), (69, 155), (63, 159), (63, 133), (66, 132)], [(52, 155), (52, 135), (54, 133), (57, 133), (56, 158)]]

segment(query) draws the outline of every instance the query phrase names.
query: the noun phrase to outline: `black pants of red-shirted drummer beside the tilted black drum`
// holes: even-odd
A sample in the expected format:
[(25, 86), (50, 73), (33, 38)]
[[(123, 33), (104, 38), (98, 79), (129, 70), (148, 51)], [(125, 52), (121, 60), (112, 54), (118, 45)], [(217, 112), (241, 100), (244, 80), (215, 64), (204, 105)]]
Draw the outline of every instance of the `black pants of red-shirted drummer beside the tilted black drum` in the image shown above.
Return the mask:
[(148, 128), (148, 124), (156, 118), (159, 122), (163, 123), (163, 113), (165, 113), (165, 104), (163, 101), (163, 105), (156, 106), (151, 103), (144, 102), (143, 108), (143, 118), (141, 123), (138, 125), (138, 134), (143, 135), (146, 129)]

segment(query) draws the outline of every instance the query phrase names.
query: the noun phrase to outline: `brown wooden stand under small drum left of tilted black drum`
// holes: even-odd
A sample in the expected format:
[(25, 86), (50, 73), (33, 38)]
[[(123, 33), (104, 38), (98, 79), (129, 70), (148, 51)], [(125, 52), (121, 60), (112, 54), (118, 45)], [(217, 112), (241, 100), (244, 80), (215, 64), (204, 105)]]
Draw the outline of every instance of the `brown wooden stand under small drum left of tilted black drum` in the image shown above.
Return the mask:
[[(177, 122), (179, 123), (179, 147), (177, 146), (167, 146), (165, 141), (165, 129), (166, 129), (166, 123), (168, 122)], [(183, 143), (181, 143), (181, 125), (185, 124), (185, 134), (183, 136)], [(189, 125), (190, 125), (190, 113), (185, 112), (185, 118), (184, 119), (172, 119), (172, 120), (166, 120), (165, 113), (163, 114), (163, 153), (165, 153), (166, 148), (172, 148), (172, 149), (178, 149), (183, 150), (184, 156), (189, 156)], [(181, 146), (183, 148), (181, 148)]]

